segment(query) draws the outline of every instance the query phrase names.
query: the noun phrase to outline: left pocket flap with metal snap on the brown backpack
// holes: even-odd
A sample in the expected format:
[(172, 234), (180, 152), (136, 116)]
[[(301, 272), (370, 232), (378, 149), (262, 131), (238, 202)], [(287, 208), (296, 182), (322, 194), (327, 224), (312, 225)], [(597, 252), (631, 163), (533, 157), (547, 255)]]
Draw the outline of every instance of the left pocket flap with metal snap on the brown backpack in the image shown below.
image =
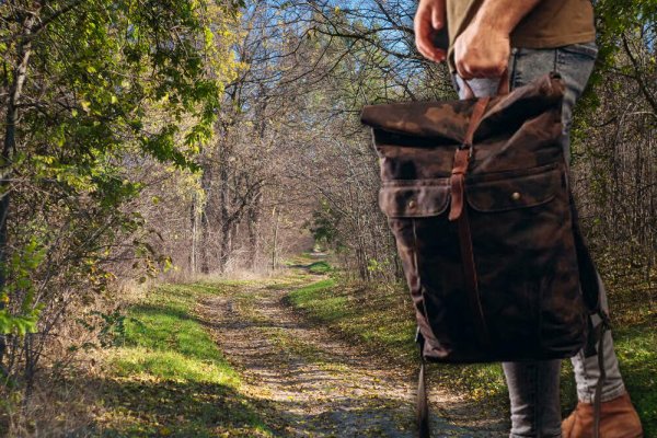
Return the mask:
[(389, 218), (438, 216), (448, 204), (448, 178), (388, 182), (379, 191), (379, 206)]

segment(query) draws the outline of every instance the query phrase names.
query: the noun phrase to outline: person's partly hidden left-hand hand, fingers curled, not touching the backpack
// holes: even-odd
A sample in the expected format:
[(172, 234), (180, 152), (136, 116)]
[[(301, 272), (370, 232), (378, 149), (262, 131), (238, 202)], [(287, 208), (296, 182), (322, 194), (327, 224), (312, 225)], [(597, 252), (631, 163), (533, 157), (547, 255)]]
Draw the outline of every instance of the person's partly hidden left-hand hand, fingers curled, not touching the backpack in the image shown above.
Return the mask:
[(415, 45), (427, 59), (441, 62), (445, 60), (443, 49), (434, 45), (434, 35), (445, 26), (446, 0), (419, 0), (415, 13)]

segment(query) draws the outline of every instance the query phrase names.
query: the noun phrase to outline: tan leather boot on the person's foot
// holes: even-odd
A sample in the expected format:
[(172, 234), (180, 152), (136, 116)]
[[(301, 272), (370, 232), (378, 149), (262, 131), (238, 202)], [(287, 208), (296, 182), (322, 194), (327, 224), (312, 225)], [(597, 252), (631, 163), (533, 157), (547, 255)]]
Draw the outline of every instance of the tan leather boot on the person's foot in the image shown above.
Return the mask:
[[(600, 438), (643, 438), (638, 415), (626, 392), (600, 405)], [(562, 438), (593, 437), (593, 405), (577, 403), (562, 423)]]

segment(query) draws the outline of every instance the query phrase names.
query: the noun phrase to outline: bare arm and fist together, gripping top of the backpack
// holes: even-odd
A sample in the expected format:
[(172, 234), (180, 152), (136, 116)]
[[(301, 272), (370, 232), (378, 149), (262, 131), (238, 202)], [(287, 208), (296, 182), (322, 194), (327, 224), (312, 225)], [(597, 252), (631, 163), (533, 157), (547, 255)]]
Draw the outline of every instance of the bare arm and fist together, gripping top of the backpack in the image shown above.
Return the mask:
[(510, 33), (541, 0), (484, 0), (454, 43), (457, 71), (463, 79), (494, 78), (507, 68)]

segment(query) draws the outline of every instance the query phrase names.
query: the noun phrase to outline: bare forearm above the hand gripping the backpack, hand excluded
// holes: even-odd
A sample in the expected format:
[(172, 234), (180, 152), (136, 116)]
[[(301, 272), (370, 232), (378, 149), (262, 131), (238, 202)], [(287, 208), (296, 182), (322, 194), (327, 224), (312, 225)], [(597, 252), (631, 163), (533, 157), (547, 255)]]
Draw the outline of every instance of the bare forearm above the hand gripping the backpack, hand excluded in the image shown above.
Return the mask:
[[(477, 11), (475, 26), (510, 34), (532, 9), (542, 0), (484, 0)], [(550, 1), (550, 0), (545, 0)]]

